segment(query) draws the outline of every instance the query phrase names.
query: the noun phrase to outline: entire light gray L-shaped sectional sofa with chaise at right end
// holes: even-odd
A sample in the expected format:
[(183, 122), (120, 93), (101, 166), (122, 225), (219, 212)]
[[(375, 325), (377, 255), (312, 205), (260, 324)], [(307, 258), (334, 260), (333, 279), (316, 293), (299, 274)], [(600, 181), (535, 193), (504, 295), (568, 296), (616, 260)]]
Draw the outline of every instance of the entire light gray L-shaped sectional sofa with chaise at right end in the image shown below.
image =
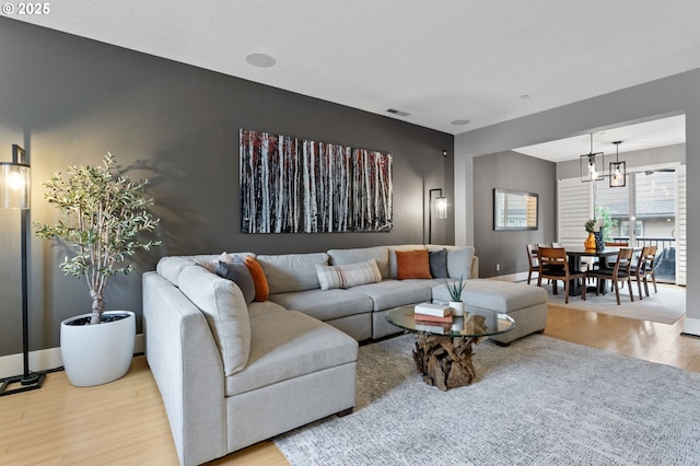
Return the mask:
[[(156, 271), (143, 275), (143, 322), (147, 359), (180, 463), (201, 464), (351, 411), (358, 341), (399, 333), (384, 317), (390, 308), (446, 300), (443, 279), (397, 279), (397, 251), (424, 248), (446, 251), (450, 278), (467, 280), (467, 307), (520, 313), (513, 335), (499, 336), (502, 342), (544, 329), (546, 292), (477, 279), (472, 247), (236, 253), (262, 268), (270, 292), (264, 302), (246, 302), (233, 281), (201, 267), (218, 256), (163, 257)], [(324, 267), (350, 270), (360, 263), (371, 265), (376, 280), (322, 289), (322, 282), (328, 288)]]

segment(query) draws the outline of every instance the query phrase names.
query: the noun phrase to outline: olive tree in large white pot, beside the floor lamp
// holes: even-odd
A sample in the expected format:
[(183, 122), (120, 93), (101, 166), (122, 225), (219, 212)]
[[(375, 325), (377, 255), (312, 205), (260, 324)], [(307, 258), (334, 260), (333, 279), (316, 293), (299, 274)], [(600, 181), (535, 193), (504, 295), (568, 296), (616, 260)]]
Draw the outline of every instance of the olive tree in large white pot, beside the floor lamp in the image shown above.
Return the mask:
[(138, 183), (113, 174), (114, 156), (102, 165), (71, 166), (44, 183), (46, 200), (61, 218), (54, 225), (36, 223), (43, 238), (59, 238), (70, 256), (59, 265), (66, 275), (85, 278), (92, 312), (61, 322), (60, 347), (63, 366), (73, 385), (90, 386), (125, 375), (133, 356), (136, 315), (131, 311), (105, 312), (104, 292), (117, 273), (135, 270), (131, 260), (159, 241), (147, 240), (159, 220), (144, 196), (148, 179)]

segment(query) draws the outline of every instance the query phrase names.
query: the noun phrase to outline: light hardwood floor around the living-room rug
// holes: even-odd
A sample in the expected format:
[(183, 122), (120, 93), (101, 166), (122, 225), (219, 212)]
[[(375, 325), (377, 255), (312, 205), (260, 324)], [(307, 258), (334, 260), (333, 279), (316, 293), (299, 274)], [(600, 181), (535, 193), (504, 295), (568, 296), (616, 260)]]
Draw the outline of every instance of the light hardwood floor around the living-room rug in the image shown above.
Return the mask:
[[(674, 325), (549, 307), (545, 335), (700, 372), (700, 339)], [(0, 398), (1, 465), (176, 465), (161, 397), (143, 357), (124, 378), (77, 388), (65, 373), (39, 391)], [(287, 465), (262, 442), (212, 465)]]

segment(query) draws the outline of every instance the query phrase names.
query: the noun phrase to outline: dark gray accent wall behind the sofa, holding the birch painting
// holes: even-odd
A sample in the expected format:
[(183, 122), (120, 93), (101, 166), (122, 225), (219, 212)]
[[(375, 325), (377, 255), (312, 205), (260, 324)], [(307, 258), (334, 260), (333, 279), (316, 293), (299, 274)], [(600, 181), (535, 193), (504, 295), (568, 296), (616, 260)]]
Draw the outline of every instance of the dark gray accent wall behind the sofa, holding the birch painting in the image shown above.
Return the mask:
[[(162, 219), (158, 235), (164, 244), (138, 258), (140, 271), (154, 269), (164, 255), (423, 243), (428, 189), (442, 187), (454, 198), (451, 135), (4, 18), (0, 44), (0, 158), (9, 160), (12, 143), (28, 151), (33, 220), (55, 219), (39, 182), (71, 164), (100, 163), (112, 151), (126, 174), (151, 179), (148, 191)], [(240, 128), (393, 154), (394, 230), (242, 234)], [(21, 352), (19, 213), (0, 211), (0, 222), (3, 356)], [(452, 206), (438, 229), (436, 242), (454, 243)], [(59, 246), (32, 240), (33, 350), (58, 346), (60, 321), (90, 308), (85, 284), (58, 270), (65, 255)], [(106, 305), (140, 314), (140, 273), (116, 277)]]

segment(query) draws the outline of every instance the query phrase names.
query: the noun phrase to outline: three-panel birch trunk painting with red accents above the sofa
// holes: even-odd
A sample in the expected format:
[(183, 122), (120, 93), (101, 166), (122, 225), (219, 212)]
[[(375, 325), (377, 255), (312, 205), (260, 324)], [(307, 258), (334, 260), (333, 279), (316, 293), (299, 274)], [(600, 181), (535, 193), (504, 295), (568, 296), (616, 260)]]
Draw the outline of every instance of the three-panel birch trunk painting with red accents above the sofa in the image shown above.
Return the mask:
[(241, 130), (243, 233), (388, 232), (392, 155)]

